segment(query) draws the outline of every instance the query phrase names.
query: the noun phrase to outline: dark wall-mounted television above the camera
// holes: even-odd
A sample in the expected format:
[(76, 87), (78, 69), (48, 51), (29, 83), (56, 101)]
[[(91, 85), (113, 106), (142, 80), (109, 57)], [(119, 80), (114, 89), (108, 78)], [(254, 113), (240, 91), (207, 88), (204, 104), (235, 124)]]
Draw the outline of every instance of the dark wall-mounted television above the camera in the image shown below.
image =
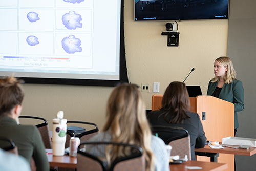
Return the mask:
[(135, 0), (135, 21), (228, 19), (229, 0)]

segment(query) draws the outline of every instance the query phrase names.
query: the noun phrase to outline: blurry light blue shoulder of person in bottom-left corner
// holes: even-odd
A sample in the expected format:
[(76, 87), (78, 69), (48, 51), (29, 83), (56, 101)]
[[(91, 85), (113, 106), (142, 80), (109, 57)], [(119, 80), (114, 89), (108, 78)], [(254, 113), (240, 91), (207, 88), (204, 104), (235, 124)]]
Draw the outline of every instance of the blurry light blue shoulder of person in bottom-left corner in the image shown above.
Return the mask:
[(22, 156), (5, 152), (0, 148), (0, 170), (4, 171), (30, 171), (30, 166), (27, 160)]

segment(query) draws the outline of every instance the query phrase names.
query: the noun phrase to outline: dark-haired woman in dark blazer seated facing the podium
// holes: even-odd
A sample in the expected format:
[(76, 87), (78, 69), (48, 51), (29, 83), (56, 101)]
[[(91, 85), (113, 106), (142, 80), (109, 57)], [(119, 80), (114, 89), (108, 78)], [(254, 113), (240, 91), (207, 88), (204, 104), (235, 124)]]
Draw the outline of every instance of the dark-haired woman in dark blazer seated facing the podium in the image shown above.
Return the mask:
[(195, 148), (205, 146), (206, 137), (199, 115), (190, 112), (190, 100), (185, 83), (172, 82), (164, 92), (160, 110), (148, 113), (151, 125), (178, 126), (190, 135), (191, 158), (196, 160)]

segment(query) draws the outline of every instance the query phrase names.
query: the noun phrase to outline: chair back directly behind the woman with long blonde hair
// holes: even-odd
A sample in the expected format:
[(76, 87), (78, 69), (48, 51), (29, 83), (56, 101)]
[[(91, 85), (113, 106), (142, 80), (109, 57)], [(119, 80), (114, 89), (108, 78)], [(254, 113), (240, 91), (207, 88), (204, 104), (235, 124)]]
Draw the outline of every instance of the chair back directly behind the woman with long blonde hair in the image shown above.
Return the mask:
[[(105, 147), (108, 145), (129, 148), (130, 155), (117, 158), (110, 167), (105, 159)], [(77, 151), (77, 171), (117, 171), (117, 170), (145, 170), (143, 150), (137, 145), (114, 142), (85, 142), (81, 143)]]

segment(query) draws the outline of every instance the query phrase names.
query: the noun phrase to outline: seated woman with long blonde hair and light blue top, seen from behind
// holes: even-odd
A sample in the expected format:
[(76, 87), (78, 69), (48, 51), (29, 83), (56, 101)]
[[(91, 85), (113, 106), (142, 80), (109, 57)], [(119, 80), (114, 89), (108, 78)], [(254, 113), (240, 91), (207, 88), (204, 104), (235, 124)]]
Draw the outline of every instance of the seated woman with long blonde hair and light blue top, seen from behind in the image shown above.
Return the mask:
[[(92, 137), (90, 141), (138, 145), (143, 149), (147, 171), (169, 170), (169, 156), (165, 144), (162, 139), (151, 134), (145, 111), (145, 104), (137, 86), (120, 84), (110, 95), (103, 132)], [(108, 163), (122, 155), (114, 154), (113, 151), (105, 152), (105, 149), (102, 148), (99, 150), (98, 148), (87, 149), (87, 152), (94, 155), (110, 156), (111, 161)]]

